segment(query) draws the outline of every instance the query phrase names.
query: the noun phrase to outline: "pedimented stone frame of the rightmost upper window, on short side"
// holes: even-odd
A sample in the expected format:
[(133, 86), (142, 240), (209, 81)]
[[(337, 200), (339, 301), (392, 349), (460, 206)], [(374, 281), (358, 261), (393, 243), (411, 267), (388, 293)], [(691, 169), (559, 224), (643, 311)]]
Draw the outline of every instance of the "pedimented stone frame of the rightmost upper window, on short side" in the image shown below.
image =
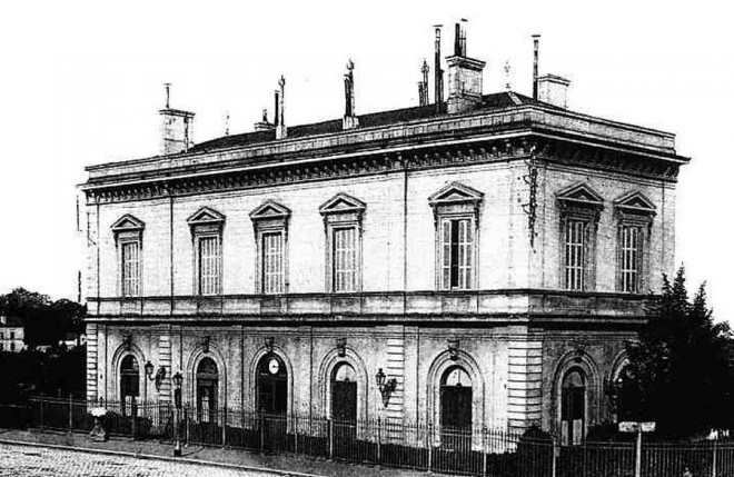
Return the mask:
[[(648, 286), (649, 244), (655, 218), (655, 205), (639, 191), (627, 192), (614, 201), (616, 216), (616, 290), (621, 294), (641, 295)], [(625, 261), (625, 230), (637, 230), (637, 279), (634, 289), (625, 287), (623, 264)]]

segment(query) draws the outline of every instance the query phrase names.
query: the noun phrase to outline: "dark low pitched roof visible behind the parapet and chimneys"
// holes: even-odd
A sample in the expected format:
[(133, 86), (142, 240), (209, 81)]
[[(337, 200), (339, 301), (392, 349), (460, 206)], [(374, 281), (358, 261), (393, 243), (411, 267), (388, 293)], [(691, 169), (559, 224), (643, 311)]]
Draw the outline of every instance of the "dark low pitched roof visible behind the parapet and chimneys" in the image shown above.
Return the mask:
[[(482, 97), (482, 102), (476, 110), (503, 109), (522, 105), (534, 105), (539, 101), (516, 92), (503, 91)], [(546, 105), (549, 106), (549, 105)], [(368, 115), (358, 115), (359, 127), (371, 128), (379, 126), (396, 125), (399, 122), (414, 121), (418, 119), (433, 118), (446, 113), (446, 103), (440, 105), (440, 110), (436, 111), (436, 105), (415, 106), (411, 108), (394, 109), (390, 111), (371, 112)], [(302, 138), (307, 136), (328, 135), (341, 131), (341, 119), (314, 122), (310, 125), (289, 126), (288, 138)], [(275, 140), (275, 130), (245, 132), (241, 135), (224, 136), (211, 139), (194, 146), (189, 152), (206, 152), (219, 149), (228, 149), (255, 145), (258, 142), (269, 142)]]

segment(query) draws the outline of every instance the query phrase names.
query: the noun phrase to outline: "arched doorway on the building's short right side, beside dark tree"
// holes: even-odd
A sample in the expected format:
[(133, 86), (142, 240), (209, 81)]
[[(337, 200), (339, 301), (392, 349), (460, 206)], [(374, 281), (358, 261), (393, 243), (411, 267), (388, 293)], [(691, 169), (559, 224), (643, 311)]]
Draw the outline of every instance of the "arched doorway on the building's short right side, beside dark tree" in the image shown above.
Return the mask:
[(586, 433), (586, 376), (579, 368), (566, 372), (561, 386), (561, 444), (582, 444)]

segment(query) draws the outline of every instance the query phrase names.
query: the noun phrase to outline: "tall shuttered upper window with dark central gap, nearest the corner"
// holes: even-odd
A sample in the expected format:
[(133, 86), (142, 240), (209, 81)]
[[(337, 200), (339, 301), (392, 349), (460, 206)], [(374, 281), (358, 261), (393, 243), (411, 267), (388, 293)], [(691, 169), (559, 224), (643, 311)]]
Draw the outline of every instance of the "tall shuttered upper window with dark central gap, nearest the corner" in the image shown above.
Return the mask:
[(472, 288), (474, 235), (470, 219), (443, 219), (440, 233), (444, 290)]

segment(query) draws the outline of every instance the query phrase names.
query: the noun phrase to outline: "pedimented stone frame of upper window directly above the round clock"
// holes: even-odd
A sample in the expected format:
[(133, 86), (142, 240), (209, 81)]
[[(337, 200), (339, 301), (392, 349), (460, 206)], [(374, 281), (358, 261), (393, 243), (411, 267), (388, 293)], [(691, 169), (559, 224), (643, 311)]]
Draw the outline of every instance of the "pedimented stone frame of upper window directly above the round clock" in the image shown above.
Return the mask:
[[(290, 209), (274, 200), (266, 200), (250, 212), (252, 230), (255, 233), (256, 258), (255, 258), (255, 291), (262, 295), (287, 294), (290, 287), (288, 276), (288, 223), (290, 221)], [(280, 286), (277, 291), (268, 291), (266, 288), (265, 270), (265, 238), (268, 235), (280, 235)]]

